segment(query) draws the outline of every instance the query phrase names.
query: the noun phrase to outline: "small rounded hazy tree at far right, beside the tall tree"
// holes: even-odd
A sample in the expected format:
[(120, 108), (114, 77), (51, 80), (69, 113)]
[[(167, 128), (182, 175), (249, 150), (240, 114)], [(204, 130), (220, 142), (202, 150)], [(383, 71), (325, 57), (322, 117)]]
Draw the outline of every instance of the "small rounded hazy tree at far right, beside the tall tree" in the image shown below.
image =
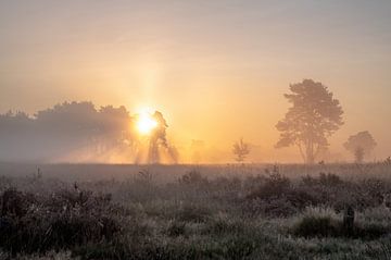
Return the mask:
[(344, 148), (354, 154), (354, 159), (358, 163), (364, 161), (364, 157), (369, 154), (376, 145), (374, 137), (368, 131), (350, 136), (348, 141), (343, 144)]

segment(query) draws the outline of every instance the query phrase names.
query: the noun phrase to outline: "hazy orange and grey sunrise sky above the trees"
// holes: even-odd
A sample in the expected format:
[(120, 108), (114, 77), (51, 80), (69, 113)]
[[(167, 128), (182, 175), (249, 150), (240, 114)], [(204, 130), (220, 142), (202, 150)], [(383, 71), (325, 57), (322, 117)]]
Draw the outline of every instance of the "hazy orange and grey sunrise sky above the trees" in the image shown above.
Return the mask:
[(391, 156), (389, 0), (2, 0), (0, 112), (63, 101), (161, 111), (179, 148), (207, 144), (231, 160), (240, 137), (254, 162), (276, 150), (289, 84), (321, 82), (344, 110), (330, 151), (369, 131), (373, 159)]

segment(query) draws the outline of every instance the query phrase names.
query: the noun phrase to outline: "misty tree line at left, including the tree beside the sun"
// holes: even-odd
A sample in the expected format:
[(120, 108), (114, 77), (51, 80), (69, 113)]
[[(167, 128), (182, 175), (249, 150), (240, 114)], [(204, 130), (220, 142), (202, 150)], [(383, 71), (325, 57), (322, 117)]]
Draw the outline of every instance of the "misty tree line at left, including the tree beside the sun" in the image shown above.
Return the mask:
[(63, 102), (38, 111), (0, 114), (2, 161), (176, 162), (177, 152), (166, 138), (167, 124), (159, 111), (159, 126), (148, 140), (139, 138), (125, 107), (97, 109), (92, 102)]

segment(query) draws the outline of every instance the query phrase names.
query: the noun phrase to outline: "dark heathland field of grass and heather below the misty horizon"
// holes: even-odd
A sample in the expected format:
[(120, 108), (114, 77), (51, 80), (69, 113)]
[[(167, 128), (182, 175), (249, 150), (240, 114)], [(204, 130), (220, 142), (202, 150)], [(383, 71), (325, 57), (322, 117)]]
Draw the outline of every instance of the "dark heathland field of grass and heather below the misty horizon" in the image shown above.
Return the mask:
[(0, 174), (0, 259), (391, 259), (390, 161)]

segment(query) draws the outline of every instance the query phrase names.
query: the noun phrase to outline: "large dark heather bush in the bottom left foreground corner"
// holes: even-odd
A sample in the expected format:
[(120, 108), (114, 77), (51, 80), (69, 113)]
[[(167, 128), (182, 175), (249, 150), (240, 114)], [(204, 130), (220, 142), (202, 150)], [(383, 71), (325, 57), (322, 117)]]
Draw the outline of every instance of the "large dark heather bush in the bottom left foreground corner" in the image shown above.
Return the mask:
[(111, 240), (121, 231), (121, 221), (114, 213), (119, 208), (110, 203), (109, 197), (65, 190), (48, 199), (5, 190), (1, 195), (0, 247), (14, 255)]

